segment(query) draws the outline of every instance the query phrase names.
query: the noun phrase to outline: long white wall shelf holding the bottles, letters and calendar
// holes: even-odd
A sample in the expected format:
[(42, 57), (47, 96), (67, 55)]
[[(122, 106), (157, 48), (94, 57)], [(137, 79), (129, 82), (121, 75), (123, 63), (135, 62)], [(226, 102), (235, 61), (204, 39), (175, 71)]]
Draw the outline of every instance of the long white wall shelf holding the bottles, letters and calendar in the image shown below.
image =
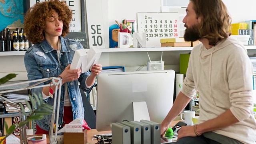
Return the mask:
[[(247, 50), (254, 50), (256, 46), (244, 46)], [(154, 52), (154, 51), (190, 51), (194, 47), (160, 47), (160, 48), (100, 48), (101, 52)], [(89, 49), (85, 49), (86, 52)], [(0, 56), (24, 55), (26, 51), (0, 52)]]

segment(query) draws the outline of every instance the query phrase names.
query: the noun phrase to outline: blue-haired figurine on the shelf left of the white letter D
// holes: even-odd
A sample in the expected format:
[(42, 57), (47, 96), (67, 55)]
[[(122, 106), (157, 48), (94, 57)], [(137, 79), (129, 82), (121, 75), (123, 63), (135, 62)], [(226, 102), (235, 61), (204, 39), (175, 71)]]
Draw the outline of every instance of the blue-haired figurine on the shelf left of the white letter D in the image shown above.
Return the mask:
[(120, 28), (117, 24), (112, 24), (109, 27), (109, 48), (118, 47), (118, 32), (120, 32)]

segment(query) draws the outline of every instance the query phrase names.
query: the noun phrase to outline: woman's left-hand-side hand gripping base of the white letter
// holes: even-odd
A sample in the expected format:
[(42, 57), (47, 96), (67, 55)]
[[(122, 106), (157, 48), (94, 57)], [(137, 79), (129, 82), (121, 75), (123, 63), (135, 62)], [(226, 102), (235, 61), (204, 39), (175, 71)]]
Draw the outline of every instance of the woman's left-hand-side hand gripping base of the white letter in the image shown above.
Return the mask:
[(62, 83), (65, 82), (71, 82), (74, 80), (77, 80), (81, 74), (81, 69), (75, 69), (75, 70), (70, 70), (70, 64), (65, 68), (65, 70), (60, 74), (62, 77)]

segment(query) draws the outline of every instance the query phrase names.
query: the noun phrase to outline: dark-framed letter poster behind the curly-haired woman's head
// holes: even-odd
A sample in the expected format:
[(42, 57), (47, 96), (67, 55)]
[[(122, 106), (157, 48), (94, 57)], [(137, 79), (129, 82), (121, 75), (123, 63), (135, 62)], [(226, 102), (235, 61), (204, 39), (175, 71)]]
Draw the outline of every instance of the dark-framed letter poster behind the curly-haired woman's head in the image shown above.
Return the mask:
[[(23, 0), (24, 1), (24, 13), (38, 2), (44, 2), (45, 0)], [(72, 20), (70, 23), (70, 32), (85, 32), (85, 0), (60, 0), (66, 3), (72, 10)]]

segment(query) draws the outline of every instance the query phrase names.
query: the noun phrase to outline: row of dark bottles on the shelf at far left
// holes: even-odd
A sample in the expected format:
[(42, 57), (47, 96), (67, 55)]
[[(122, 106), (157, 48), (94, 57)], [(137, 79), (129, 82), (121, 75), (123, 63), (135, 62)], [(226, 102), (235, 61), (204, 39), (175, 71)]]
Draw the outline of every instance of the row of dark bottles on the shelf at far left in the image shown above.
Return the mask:
[[(11, 37), (12, 36), (12, 37)], [(9, 28), (0, 32), (0, 52), (28, 50), (29, 43), (23, 28), (11, 32)]]

